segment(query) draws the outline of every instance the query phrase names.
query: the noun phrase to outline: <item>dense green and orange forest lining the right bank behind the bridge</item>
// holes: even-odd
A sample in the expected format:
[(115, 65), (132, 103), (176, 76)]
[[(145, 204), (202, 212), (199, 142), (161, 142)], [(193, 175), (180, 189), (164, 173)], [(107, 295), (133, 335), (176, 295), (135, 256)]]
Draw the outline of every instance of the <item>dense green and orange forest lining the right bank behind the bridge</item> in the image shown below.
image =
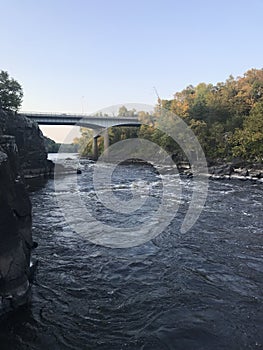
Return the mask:
[[(171, 100), (159, 99), (153, 113), (129, 111), (123, 106), (119, 116), (137, 114), (148, 125), (113, 127), (109, 130), (110, 143), (142, 137), (158, 143), (171, 154), (180, 154), (178, 145), (158, 129), (158, 124), (164, 123), (169, 113), (181, 117), (189, 125), (208, 159), (262, 161), (263, 69), (248, 70), (237, 78), (230, 76), (216, 85), (189, 85), (176, 92)], [(81, 138), (75, 140), (82, 154), (91, 153), (90, 137), (90, 131), (82, 129)], [(102, 138), (99, 146), (102, 150)]]

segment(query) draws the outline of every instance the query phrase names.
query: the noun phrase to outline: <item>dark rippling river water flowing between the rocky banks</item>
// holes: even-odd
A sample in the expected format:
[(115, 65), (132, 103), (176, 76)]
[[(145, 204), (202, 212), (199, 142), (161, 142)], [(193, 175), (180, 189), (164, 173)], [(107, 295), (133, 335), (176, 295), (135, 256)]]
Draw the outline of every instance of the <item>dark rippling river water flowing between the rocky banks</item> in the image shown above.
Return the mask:
[[(78, 178), (87, 198), (94, 197), (91, 170), (84, 164)], [(150, 167), (125, 165), (114, 180), (117, 195), (121, 184), (119, 196), (129, 196), (134, 179), (143, 181), (142, 193), (145, 181), (158, 192)], [(70, 176), (61, 181), (70, 188)], [(126, 249), (74, 234), (53, 180), (32, 192), (33, 301), (1, 322), (0, 349), (263, 348), (263, 184), (210, 181), (202, 215), (181, 234), (191, 179), (181, 181), (182, 204), (165, 232)]]

